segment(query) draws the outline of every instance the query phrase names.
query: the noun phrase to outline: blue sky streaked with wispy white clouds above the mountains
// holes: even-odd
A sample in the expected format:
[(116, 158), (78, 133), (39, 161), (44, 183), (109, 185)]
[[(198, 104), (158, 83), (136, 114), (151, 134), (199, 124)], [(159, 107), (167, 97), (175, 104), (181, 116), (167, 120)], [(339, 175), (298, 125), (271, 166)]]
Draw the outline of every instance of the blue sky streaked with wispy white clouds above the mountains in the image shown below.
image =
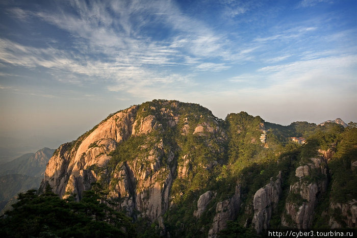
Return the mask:
[(1, 1), (0, 136), (64, 143), (157, 98), (223, 119), (357, 121), (356, 12), (355, 0)]

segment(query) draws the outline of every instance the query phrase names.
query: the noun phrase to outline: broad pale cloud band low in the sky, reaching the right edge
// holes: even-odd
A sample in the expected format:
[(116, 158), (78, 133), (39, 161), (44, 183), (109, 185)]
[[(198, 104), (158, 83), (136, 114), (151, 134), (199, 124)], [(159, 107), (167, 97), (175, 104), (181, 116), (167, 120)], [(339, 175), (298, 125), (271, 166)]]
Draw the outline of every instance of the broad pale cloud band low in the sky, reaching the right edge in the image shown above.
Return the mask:
[[(296, 61), (260, 68), (256, 73), (241, 74), (230, 79), (232, 83), (241, 83), (257, 95), (265, 94), (267, 100), (273, 95), (282, 93), (356, 90), (355, 74), (357, 73), (357, 55), (331, 56), (319, 59)], [(321, 92), (320, 92), (321, 91)], [(255, 92), (255, 93), (254, 93)], [(341, 93), (341, 92), (335, 92)], [(345, 92), (346, 93), (346, 92)]]

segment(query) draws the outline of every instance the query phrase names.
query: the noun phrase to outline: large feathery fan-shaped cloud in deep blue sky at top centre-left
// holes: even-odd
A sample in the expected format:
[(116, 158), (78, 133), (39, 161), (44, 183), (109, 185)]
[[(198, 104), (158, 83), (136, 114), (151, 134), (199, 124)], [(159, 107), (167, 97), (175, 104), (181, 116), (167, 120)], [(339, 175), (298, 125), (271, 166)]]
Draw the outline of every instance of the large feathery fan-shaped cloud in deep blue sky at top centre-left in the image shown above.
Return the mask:
[[(106, 3), (76, 1), (72, 7), (78, 14), (57, 11), (38, 12), (36, 15), (85, 40), (83, 44), (89, 42), (92, 49), (103, 52), (105, 48), (107, 54), (138, 52), (155, 55), (155, 50), (161, 48), (169, 53), (166, 54), (168, 61), (175, 57), (178, 49), (203, 57), (217, 57), (221, 51), (222, 38), (202, 22), (182, 14), (173, 2), (155, 1), (145, 5), (137, 1)], [(110, 13), (108, 8), (114, 13)], [(150, 25), (172, 29), (176, 31), (175, 37), (171, 41), (156, 41), (155, 36), (147, 35), (145, 31)]]

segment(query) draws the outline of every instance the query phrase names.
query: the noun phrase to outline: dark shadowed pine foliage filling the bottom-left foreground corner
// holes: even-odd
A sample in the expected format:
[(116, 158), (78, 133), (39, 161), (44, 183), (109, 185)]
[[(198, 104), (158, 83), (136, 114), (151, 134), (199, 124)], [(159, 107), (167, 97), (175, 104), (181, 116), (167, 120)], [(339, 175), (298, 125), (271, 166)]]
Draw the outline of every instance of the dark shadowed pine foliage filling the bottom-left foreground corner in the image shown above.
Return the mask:
[(131, 219), (86, 191), (80, 202), (60, 199), (46, 188), (18, 195), (13, 210), (0, 217), (3, 237), (135, 237)]

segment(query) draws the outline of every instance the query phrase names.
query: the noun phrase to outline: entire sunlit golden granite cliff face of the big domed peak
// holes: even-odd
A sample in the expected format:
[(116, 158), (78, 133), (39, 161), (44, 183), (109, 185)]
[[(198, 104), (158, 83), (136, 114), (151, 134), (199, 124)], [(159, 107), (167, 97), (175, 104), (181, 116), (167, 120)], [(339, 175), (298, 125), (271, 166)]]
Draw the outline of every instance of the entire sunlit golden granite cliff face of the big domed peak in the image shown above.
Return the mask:
[[(108, 197), (120, 198), (120, 206), (128, 215), (136, 218), (135, 211), (139, 211), (140, 217), (160, 219), (169, 207), (175, 177), (185, 178), (189, 170), (209, 171), (219, 163), (214, 158), (193, 163), (192, 153), (180, 153), (184, 144), (170, 144), (171, 140), (165, 143), (165, 132), (175, 127), (182, 137), (190, 134), (218, 143), (226, 140), (217, 119), (208, 110), (203, 110), (207, 118), (202, 123), (199, 123), (202, 114), (182, 115), (180, 110), (185, 112), (181, 103), (164, 101), (156, 107), (154, 103), (147, 107), (135, 105), (111, 115), (77, 141), (57, 149), (47, 165), (42, 189), (49, 184), (62, 198), (75, 194), (81, 199), (82, 192), (90, 189), (93, 182), (106, 179), (110, 188)], [(182, 125), (177, 128), (179, 122)], [(129, 139), (141, 140), (134, 148), (137, 156), (124, 158), (110, 170), (106, 168), (112, 159), (111, 152)]]

